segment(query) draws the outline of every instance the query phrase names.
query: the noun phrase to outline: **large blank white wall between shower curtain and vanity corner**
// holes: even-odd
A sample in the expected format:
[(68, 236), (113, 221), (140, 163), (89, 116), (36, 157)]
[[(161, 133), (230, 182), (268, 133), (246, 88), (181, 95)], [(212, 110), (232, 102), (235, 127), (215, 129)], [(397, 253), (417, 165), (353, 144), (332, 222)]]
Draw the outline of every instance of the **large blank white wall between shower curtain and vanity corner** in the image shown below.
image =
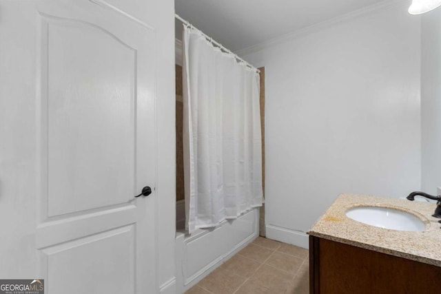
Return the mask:
[(307, 246), (304, 233), (339, 193), (420, 189), (420, 18), (407, 6), (244, 56), (266, 72), (269, 238)]

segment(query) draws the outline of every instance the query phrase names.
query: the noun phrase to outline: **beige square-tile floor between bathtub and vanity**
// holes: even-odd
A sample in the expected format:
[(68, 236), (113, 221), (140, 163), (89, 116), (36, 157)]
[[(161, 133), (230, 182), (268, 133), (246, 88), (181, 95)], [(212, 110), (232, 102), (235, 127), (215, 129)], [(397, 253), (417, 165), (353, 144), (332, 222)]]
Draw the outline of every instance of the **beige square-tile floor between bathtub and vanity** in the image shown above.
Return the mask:
[(186, 293), (308, 294), (308, 251), (259, 237)]

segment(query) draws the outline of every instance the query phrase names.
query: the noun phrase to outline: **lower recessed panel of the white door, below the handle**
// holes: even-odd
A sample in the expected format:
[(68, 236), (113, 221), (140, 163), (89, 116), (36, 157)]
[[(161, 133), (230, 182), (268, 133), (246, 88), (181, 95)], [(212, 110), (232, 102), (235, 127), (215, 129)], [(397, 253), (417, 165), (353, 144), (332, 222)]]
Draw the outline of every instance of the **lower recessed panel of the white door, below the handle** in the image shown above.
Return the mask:
[[(46, 291), (135, 293), (134, 237), (134, 226), (130, 225), (43, 250), (43, 262), (48, 269), (56, 269), (49, 271)], [(94, 262), (90, 262), (90, 255)]]

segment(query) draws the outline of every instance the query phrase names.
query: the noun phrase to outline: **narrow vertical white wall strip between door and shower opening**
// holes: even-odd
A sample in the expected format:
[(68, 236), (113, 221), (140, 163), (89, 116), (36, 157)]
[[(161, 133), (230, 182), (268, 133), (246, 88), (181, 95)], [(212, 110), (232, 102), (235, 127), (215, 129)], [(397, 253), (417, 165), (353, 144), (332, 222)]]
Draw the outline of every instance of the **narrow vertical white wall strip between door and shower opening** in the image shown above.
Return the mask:
[[(145, 1), (141, 1), (145, 3)], [(148, 1), (156, 10), (158, 61), (156, 127), (158, 152), (158, 266), (161, 294), (176, 293), (174, 240), (176, 237), (176, 127), (174, 93), (174, 1)], [(145, 14), (146, 10), (141, 10)]]

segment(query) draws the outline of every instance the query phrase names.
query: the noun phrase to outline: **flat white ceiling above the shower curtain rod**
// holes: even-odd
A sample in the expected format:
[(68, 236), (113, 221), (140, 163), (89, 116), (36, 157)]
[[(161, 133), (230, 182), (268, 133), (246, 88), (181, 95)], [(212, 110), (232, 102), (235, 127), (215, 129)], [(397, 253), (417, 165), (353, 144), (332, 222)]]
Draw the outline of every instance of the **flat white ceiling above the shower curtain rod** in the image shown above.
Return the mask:
[[(232, 51), (380, 2), (384, 0), (174, 1), (177, 14)], [(176, 21), (178, 39), (181, 30), (181, 22)]]

